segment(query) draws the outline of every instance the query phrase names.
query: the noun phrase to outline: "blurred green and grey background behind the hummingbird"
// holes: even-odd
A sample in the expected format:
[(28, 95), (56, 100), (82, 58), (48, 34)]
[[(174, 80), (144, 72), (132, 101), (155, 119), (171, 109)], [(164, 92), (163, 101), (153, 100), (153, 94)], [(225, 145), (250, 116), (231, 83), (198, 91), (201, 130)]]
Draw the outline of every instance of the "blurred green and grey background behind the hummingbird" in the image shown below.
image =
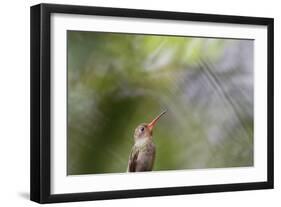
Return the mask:
[(253, 40), (67, 32), (67, 174), (125, 172), (138, 124), (153, 170), (253, 165)]

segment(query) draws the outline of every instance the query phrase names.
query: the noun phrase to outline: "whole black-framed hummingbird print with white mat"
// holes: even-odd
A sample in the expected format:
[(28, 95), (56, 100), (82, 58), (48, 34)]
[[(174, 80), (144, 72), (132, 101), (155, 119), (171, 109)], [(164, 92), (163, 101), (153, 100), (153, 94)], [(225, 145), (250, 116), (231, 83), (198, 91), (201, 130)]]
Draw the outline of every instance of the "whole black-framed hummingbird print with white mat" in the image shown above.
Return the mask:
[(31, 7), (31, 200), (273, 188), (273, 19)]

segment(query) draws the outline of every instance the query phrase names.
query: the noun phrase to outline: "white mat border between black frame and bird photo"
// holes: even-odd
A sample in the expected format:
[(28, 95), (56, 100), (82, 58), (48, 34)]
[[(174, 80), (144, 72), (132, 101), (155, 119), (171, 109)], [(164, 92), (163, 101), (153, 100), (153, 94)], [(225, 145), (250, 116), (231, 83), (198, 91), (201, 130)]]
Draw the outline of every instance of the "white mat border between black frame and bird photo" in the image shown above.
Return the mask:
[[(254, 39), (254, 166), (67, 176), (67, 30)], [(51, 14), (51, 194), (267, 181), (267, 26)]]

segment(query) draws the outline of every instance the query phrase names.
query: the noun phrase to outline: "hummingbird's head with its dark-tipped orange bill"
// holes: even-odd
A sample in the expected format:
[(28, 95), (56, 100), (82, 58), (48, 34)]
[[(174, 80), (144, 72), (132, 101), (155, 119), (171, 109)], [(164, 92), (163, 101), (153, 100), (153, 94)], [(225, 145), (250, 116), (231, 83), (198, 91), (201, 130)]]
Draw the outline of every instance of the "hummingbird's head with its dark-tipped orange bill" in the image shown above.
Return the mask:
[(149, 139), (152, 138), (152, 130), (158, 120), (163, 116), (167, 111), (162, 112), (159, 114), (155, 119), (153, 119), (149, 124), (143, 123), (140, 124), (136, 129), (135, 129), (135, 134), (134, 138), (135, 141), (140, 140), (140, 139)]

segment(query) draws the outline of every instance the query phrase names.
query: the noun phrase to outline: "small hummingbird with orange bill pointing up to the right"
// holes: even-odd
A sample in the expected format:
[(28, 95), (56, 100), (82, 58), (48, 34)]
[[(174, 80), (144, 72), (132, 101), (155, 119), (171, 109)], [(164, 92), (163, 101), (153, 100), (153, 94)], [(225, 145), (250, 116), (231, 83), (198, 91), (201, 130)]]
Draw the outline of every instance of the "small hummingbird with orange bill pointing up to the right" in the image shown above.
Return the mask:
[(167, 110), (163, 111), (149, 124), (142, 123), (135, 129), (134, 146), (129, 156), (127, 172), (152, 170), (156, 151), (152, 140), (152, 130), (166, 112)]

